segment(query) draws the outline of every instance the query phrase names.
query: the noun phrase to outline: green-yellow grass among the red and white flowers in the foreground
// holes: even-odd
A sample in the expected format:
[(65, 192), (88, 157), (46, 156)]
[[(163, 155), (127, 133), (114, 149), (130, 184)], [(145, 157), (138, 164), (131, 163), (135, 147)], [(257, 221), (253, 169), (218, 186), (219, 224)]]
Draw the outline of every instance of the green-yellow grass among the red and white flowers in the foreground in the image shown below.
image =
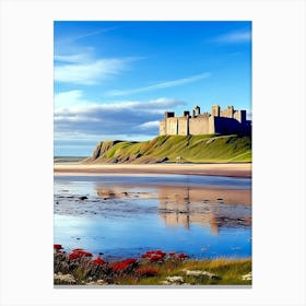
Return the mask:
[[(66, 260), (67, 261), (67, 260)], [(69, 261), (67, 261), (69, 262)], [(61, 266), (68, 267), (69, 264)], [(185, 284), (190, 285), (250, 285), (250, 280), (243, 280), (243, 275), (251, 272), (251, 259), (204, 259), (204, 260), (180, 260), (168, 258), (162, 262), (149, 262), (148, 260), (140, 259), (136, 264), (129, 267), (122, 272), (114, 273), (109, 266), (104, 266), (104, 272), (99, 272), (95, 276), (95, 273), (89, 273), (91, 264), (86, 260), (81, 260), (79, 266), (70, 262), (72, 270), (62, 271), (64, 273), (71, 273), (76, 280), (75, 284), (85, 284), (90, 281), (104, 280), (107, 284), (116, 285), (163, 285), (168, 276), (181, 276)], [(73, 268), (76, 267), (76, 268)], [(140, 275), (139, 269), (153, 269), (156, 271), (156, 275)], [(60, 269), (56, 269), (59, 272)], [(205, 271), (214, 274), (213, 278), (208, 275), (187, 275), (186, 270), (189, 271)], [(95, 271), (95, 270), (93, 270)], [(175, 284), (175, 283), (174, 283)]]

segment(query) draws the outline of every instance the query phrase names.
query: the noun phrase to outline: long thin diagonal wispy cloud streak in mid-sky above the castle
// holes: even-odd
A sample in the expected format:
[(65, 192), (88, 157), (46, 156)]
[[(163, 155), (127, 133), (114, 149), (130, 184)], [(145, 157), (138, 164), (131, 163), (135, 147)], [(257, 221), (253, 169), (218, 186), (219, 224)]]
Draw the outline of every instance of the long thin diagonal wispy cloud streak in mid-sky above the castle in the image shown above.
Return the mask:
[(149, 91), (168, 89), (168, 87), (174, 87), (174, 86), (179, 86), (179, 85), (192, 83), (192, 82), (196, 82), (196, 81), (199, 81), (199, 80), (202, 80), (202, 79), (207, 79), (207, 78), (210, 78), (210, 75), (211, 75), (211, 73), (205, 72), (205, 73), (196, 74), (196, 75), (191, 75), (191, 76), (184, 78), (184, 79), (172, 80), (172, 81), (166, 81), (166, 82), (162, 82), (162, 83), (157, 83), (157, 84), (152, 84), (152, 85), (144, 86), (144, 87), (122, 90), (122, 91), (111, 91), (111, 92), (108, 92), (108, 95), (110, 95), (110, 96), (123, 96), (123, 95), (149, 92)]

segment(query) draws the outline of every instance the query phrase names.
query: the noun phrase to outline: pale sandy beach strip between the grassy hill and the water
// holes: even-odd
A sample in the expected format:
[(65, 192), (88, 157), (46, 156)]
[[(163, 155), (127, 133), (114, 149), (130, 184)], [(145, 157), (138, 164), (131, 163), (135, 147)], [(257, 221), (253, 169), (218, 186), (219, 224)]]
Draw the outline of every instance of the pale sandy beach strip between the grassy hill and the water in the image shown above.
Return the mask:
[(55, 164), (55, 175), (184, 174), (251, 177), (251, 164)]

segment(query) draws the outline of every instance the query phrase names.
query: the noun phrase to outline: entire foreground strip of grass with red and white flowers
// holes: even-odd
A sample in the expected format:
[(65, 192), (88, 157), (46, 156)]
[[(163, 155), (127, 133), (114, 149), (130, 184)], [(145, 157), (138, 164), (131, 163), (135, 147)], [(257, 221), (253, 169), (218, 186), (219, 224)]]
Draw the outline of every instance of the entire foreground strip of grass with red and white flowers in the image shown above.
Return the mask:
[(107, 262), (83, 249), (55, 245), (55, 284), (68, 285), (250, 285), (250, 259), (191, 260), (185, 254), (146, 251)]

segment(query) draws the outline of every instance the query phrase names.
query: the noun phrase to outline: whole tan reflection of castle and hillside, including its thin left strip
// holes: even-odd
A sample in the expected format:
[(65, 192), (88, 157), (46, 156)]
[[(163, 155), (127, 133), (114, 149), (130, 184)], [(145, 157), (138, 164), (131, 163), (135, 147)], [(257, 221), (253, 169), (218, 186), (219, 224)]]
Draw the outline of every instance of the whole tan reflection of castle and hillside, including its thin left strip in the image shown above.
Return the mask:
[(211, 189), (188, 186), (116, 186), (97, 187), (104, 200), (114, 198), (158, 199), (158, 216), (167, 226), (192, 224), (210, 227), (219, 234), (221, 227), (242, 227), (251, 224), (250, 189)]

